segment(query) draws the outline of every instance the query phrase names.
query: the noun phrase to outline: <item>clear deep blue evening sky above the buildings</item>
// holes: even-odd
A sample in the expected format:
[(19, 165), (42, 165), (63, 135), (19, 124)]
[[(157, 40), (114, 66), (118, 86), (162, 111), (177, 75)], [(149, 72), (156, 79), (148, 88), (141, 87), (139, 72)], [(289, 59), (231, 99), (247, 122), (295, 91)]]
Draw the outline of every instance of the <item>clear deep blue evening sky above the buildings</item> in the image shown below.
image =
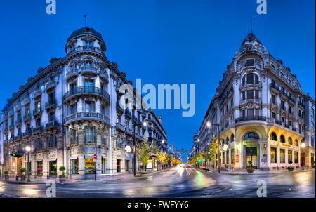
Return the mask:
[(196, 85), (195, 116), (156, 110), (179, 149), (191, 147), (250, 18), (258, 39), (315, 99), (315, 1), (268, 0), (267, 15), (256, 13), (256, 0), (57, 0), (56, 15), (47, 15), (46, 6), (45, 0), (1, 1), (1, 108), (38, 67), (65, 56), (67, 38), (84, 26), (84, 15), (103, 35), (107, 58), (133, 83)]

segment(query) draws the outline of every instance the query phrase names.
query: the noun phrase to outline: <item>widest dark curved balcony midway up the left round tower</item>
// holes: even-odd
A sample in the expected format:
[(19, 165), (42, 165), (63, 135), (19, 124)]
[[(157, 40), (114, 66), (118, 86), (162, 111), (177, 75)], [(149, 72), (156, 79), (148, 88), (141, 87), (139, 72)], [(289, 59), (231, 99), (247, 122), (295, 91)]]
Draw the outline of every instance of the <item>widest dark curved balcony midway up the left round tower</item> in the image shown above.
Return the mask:
[(65, 95), (63, 96), (63, 100), (65, 102), (79, 95), (97, 95), (98, 97), (105, 99), (106, 102), (110, 104), (110, 95), (109, 93), (107, 93), (107, 91), (102, 90), (101, 88), (98, 88), (98, 87), (88, 87), (88, 86), (76, 87), (70, 91), (67, 91)]

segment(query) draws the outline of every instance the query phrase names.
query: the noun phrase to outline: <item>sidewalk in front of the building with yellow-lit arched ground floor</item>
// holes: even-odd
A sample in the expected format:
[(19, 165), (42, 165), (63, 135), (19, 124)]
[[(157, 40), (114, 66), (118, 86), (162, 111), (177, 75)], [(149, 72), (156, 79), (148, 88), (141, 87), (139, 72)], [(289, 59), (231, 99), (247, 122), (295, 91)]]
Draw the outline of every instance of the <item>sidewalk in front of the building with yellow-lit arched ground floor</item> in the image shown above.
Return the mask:
[[(204, 169), (197, 169), (196, 170), (199, 170), (199, 171), (205, 171), (205, 172), (209, 172), (209, 173), (218, 173), (218, 169), (212, 169), (212, 170), (204, 170)], [(260, 170), (260, 169), (255, 169), (253, 173), (251, 174), (258, 174), (258, 175), (264, 175), (264, 174), (271, 174), (271, 173), (291, 173), (291, 172), (305, 172), (305, 171), (315, 171), (315, 168), (308, 168), (308, 169), (301, 169), (301, 168), (298, 168), (298, 169), (294, 169), (293, 171), (288, 171), (288, 170), (279, 170), (279, 171), (263, 171), (263, 170)], [(230, 174), (230, 175), (247, 175), (249, 174), (246, 169), (244, 171), (231, 171), (230, 173), (228, 172), (227, 169), (221, 169), (220, 170), (220, 174)]]

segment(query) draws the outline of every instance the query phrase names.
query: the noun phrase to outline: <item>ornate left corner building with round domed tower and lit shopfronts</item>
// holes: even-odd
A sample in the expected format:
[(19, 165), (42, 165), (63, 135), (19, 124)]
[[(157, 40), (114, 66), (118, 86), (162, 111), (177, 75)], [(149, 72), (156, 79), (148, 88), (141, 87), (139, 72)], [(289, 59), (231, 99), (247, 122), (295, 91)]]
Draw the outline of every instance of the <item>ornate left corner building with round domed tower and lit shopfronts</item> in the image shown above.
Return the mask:
[(136, 142), (146, 136), (167, 150), (161, 116), (119, 107), (119, 87), (132, 82), (107, 60), (99, 32), (90, 27), (72, 32), (65, 51), (65, 58), (51, 58), (48, 67), (29, 77), (2, 110), (4, 171), (14, 176), (27, 167), (27, 145), (37, 178), (60, 175), (60, 166), (70, 178), (81, 179), (132, 171), (133, 151), (124, 148), (133, 150), (133, 124), (143, 121), (149, 124), (136, 126)]

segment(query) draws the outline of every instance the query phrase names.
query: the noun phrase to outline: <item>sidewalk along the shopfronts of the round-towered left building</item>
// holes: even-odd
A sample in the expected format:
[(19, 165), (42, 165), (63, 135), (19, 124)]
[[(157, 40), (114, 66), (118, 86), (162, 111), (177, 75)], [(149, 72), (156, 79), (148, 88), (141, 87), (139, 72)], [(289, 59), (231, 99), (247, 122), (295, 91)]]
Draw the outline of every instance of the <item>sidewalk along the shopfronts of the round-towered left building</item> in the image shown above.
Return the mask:
[[(171, 167), (173, 168), (173, 167)], [(86, 179), (72, 179), (67, 178), (63, 183), (65, 184), (73, 184), (73, 183), (106, 183), (113, 180), (133, 180), (133, 179), (139, 179), (139, 178), (147, 178), (148, 176), (152, 176), (156, 173), (161, 173), (163, 171), (168, 171), (171, 168), (165, 168), (165, 169), (159, 169), (158, 171), (149, 171), (147, 174), (143, 174), (141, 177), (134, 177), (133, 173), (115, 173), (115, 174), (107, 174), (107, 175), (97, 175), (97, 178), (95, 180), (94, 177), (92, 178), (86, 178)], [(141, 172), (137, 172), (137, 175), (141, 175)], [(9, 180), (4, 180), (4, 177), (0, 177), (0, 182), (4, 183), (15, 183), (15, 184), (46, 184), (48, 180), (54, 180), (56, 183), (59, 182), (59, 178), (30, 178), (31, 182), (27, 182), (27, 179), (25, 181), (21, 181), (19, 178), (19, 181), (16, 181), (15, 178), (11, 177)]]

